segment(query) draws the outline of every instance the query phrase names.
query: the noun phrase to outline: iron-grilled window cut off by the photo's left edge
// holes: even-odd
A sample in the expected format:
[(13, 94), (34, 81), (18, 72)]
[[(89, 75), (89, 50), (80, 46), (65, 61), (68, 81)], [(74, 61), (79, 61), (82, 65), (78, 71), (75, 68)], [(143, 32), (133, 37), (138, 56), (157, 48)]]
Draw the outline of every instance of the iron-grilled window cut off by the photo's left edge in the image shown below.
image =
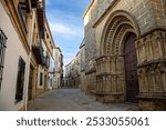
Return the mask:
[(1, 89), (1, 82), (3, 79), (2, 74), (3, 74), (3, 68), (4, 68), (6, 48), (7, 48), (7, 37), (0, 28), (0, 89)]

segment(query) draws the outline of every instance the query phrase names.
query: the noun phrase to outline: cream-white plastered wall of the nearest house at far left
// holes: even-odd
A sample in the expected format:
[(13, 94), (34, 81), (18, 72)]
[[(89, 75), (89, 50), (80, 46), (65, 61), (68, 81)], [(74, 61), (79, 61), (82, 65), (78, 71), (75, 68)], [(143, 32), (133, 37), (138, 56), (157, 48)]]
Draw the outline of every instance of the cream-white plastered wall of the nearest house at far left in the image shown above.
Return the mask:
[[(9, 6), (9, 2), (7, 3)], [(0, 1), (0, 110), (21, 110), (28, 89), (28, 81), (24, 79), (29, 77), (31, 30), (24, 33), (24, 27), (17, 24), (19, 19), (13, 19), (12, 9), (8, 8), (7, 3)], [(31, 13), (30, 19), (27, 17), (27, 28), (33, 22), (33, 14)]]

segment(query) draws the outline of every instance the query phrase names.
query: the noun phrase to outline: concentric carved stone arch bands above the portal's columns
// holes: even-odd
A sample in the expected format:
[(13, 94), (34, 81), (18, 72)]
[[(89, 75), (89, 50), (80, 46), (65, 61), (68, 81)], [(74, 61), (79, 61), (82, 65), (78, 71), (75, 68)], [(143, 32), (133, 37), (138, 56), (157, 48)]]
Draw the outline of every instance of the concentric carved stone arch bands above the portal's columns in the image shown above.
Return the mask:
[[(122, 38), (121, 34), (123, 36), (123, 32), (125, 32), (125, 31), (120, 31), (121, 30), (121, 28), (118, 28), (120, 26), (122, 27), (124, 26), (123, 28), (126, 28), (126, 30), (128, 28), (133, 29), (136, 36), (137, 37), (139, 36), (138, 26), (136, 24), (135, 19), (128, 12), (125, 12), (122, 10), (113, 12), (104, 28), (102, 43), (101, 43), (101, 47), (102, 47), (101, 56), (118, 53), (117, 50), (120, 49), (118, 48), (120, 43), (116, 43), (115, 47), (117, 47), (118, 49), (115, 49), (116, 50), (115, 52), (113, 52), (111, 48), (112, 48), (112, 44), (114, 44), (113, 40), (117, 38), (116, 41), (121, 41), (120, 40)], [(121, 33), (118, 34), (118, 37), (115, 38), (115, 33), (118, 33), (118, 32)]]

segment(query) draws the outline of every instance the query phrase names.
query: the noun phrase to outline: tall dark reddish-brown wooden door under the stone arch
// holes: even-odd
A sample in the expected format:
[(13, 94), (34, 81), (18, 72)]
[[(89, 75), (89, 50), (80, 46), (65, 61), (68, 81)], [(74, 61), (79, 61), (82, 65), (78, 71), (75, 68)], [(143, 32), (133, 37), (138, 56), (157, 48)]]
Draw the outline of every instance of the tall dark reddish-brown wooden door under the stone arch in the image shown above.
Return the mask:
[(126, 80), (126, 101), (137, 103), (138, 77), (137, 77), (137, 56), (135, 48), (136, 36), (128, 33), (124, 43), (124, 64)]

